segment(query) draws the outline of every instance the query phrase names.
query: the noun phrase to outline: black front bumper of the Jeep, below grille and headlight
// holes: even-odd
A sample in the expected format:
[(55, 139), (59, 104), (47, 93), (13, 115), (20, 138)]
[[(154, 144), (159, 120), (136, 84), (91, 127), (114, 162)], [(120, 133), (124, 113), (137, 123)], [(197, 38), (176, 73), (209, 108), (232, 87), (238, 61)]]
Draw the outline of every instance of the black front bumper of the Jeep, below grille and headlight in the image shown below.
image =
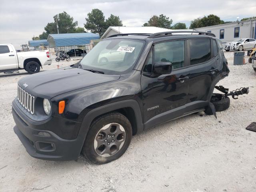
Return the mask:
[[(30, 156), (43, 160), (77, 160), (84, 142), (82, 137), (78, 136), (74, 140), (63, 139), (49, 130), (38, 130), (28, 126), (14, 108), (12, 115), (16, 123), (14, 132)], [(48, 136), (40, 135), (39, 132), (44, 132)]]

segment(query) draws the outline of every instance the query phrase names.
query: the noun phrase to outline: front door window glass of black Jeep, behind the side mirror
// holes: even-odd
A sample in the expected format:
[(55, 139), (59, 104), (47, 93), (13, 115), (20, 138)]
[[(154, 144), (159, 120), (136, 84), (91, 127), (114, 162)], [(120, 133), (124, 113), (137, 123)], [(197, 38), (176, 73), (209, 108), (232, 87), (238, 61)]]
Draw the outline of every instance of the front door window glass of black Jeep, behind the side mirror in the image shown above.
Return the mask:
[(184, 67), (185, 41), (170, 41), (154, 46), (154, 63), (172, 62), (172, 69)]

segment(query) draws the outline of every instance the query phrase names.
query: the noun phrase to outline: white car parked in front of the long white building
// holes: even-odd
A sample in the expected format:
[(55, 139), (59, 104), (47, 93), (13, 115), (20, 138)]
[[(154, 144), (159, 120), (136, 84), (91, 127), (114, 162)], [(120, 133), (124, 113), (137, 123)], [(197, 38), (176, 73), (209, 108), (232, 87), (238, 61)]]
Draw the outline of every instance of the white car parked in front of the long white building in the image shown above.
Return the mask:
[(234, 40), (230, 43), (226, 43), (224, 49), (226, 51), (230, 51), (230, 50), (242, 51), (244, 49), (252, 49), (252, 48), (256, 48), (256, 40), (250, 39), (250, 38), (244, 38), (244, 39)]

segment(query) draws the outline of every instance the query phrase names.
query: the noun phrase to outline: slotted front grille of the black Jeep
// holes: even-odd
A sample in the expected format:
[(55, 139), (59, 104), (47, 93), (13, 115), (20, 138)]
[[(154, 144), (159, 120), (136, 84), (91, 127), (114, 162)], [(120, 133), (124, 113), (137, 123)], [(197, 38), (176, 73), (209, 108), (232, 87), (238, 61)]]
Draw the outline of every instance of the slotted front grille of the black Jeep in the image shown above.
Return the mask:
[(18, 86), (18, 101), (32, 115), (34, 114), (35, 97)]

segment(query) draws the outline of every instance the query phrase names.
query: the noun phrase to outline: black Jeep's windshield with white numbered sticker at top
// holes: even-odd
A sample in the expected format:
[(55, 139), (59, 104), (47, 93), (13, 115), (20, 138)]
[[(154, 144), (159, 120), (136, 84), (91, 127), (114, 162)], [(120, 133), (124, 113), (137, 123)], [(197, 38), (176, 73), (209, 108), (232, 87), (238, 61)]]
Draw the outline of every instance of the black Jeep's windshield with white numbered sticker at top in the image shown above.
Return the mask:
[(130, 70), (144, 46), (144, 41), (109, 39), (99, 42), (80, 61), (83, 69), (98, 70), (105, 74), (124, 74)]

